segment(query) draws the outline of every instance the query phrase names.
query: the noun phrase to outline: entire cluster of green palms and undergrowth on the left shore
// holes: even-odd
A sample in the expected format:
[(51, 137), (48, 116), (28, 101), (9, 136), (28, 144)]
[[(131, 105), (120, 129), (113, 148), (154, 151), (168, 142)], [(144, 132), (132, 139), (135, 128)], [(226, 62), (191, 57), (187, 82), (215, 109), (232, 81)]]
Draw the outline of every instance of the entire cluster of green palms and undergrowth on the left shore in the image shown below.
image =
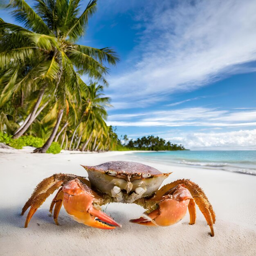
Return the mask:
[(81, 6), (81, 0), (35, 0), (32, 8), (25, 0), (11, 0), (6, 7), (22, 26), (0, 18), (0, 132), (5, 143), (36, 146), (35, 153), (51, 145), (54, 152), (117, 145), (116, 133), (106, 124), (111, 105), (103, 88), (119, 58), (109, 47), (77, 43), (97, 0), (84, 10)]

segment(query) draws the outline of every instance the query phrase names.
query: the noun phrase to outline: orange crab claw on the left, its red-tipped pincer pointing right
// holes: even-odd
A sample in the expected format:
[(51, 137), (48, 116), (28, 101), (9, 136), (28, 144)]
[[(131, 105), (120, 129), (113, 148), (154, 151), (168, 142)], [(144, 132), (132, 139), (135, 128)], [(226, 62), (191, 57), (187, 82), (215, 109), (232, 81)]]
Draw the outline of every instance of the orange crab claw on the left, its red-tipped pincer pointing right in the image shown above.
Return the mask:
[(93, 206), (93, 191), (80, 180), (67, 182), (63, 186), (63, 192), (65, 210), (77, 222), (100, 229), (121, 227), (110, 216)]

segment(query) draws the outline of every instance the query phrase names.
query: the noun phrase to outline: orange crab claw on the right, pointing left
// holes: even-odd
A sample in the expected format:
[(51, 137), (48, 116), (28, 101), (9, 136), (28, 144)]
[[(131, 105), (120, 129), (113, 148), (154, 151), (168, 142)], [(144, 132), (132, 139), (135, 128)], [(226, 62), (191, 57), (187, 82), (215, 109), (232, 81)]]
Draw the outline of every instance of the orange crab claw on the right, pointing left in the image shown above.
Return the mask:
[(189, 190), (182, 185), (175, 186), (168, 195), (164, 195), (157, 203), (158, 208), (144, 213), (140, 218), (130, 222), (147, 226), (169, 226), (179, 222), (185, 215), (192, 198)]

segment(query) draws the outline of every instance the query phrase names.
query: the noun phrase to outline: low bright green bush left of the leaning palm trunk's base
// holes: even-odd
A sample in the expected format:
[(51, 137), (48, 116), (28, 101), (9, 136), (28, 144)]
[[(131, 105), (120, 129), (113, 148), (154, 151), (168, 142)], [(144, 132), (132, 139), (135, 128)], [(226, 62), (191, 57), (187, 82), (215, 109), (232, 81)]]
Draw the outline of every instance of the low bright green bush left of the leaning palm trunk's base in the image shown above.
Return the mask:
[(40, 148), (41, 146), (43, 146), (44, 141), (41, 138), (29, 135), (19, 137), (18, 139), (11, 139), (11, 141), (8, 144), (9, 146), (17, 149), (21, 149), (25, 146)]

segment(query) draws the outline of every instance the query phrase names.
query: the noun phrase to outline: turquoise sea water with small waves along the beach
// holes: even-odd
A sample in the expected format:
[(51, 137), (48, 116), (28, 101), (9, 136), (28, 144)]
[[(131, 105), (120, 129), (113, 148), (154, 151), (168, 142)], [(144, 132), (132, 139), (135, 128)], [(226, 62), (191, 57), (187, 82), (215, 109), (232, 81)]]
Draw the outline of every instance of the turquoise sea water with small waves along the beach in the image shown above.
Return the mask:
[(136, 152), (136, 157), (150, 161), (197, 166), (256, 175), (256, 150), (236, 151), (158, 151)]

